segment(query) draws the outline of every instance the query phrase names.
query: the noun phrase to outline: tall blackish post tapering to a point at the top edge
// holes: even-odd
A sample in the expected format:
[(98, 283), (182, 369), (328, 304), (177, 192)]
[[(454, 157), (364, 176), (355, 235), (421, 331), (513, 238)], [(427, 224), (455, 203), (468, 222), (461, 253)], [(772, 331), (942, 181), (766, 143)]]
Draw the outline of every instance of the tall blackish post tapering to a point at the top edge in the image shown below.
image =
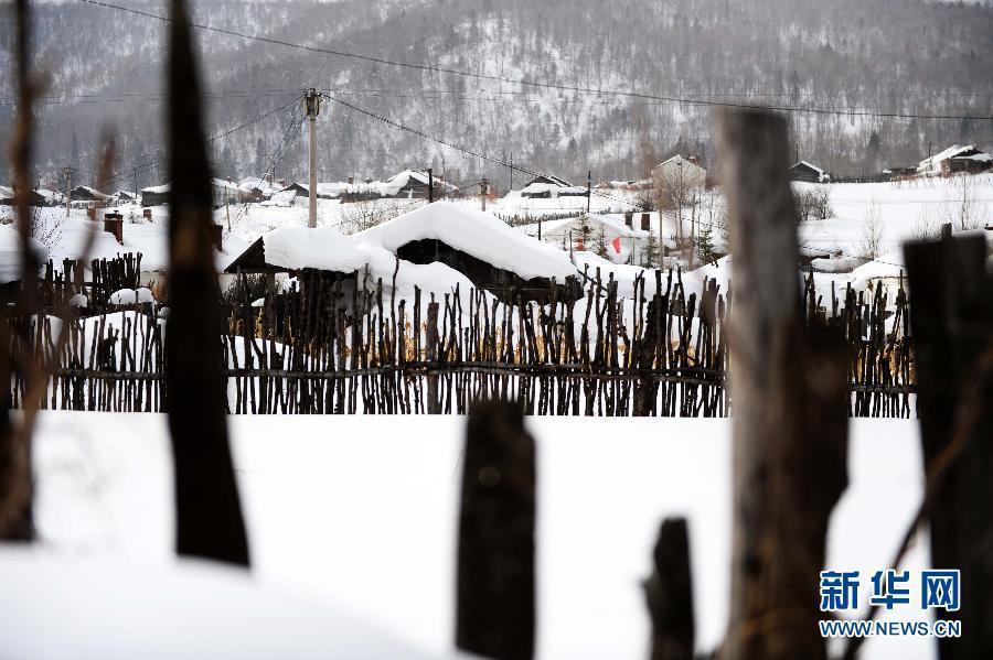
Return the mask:
[(169, 57), (169, 332), (166, 386), (172, 435), (177, 550), (248, 564), (227, 443), (217, 273), (211, 247), (211, 174), (200, 77), (186, 7), (173, 0)]

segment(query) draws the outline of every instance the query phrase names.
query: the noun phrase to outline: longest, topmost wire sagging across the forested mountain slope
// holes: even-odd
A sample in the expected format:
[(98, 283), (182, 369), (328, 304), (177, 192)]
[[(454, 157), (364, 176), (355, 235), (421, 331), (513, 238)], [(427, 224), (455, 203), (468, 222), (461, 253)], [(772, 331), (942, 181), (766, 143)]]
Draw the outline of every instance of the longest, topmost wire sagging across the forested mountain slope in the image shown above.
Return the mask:
[[(127, 13), (131, 13), (139, 17), (145, 17), (149, 19), (154, 19), (157, 21), (162, 21), (166, 23), (172, 22), (172, 19), (169, 17), (163, 17), (159, 14), (154, 14), (147, 11), (141, 11), (140, 9), (134, 9), (129, 7), (121, 7), (119, 4), (113, 4), (110, 2), (102, 2), (100, 0), (82, 0), (87, 4), (93, 4), (95, 7), (100, 7), (104, 9), (111, 9), (115, 11), (122, 11)], [(546, 89), (557, 89), (559, 91), (573, 91), (577, 94), (595, 94), (599, 96), (624, 96), (629, 98), (640, 98), (648, 100), (656, 100), (663, 102), (673, 102), (673, 104), (685, 104), (685, 105), (696, 105), (696, 106), (708, 106), (708, 107), (723, 107), (723, 108), (738, 108), (738, 109), (762, 109), (762, 110), (776, 110), (780, 112), (805, 112), (813, 115), (839, 115), (839, 116), (848, 116), (848, 117), (879, 117), (879, 118), (895, 118), (895, 119), (973, 119), (973, 120), (982, 120), (982, 121), (993, 121), (993, 116), (986, 117), (974, 117), (968, 115), (916, 115), (916, 113), (900, 113), (900, 112), (869, 112), (863, 110), (834, 110), (830, 108), (809, 108), (809, 107), (794, 107), (794, 106), (783, 106), (783, 105), (768, 105), (768, 106), (757, 106), (752, 104), (740, 104), (740, 102), (730, 102), (730, 101), (713, 101), (705, 100), (700, 98), (687, 98), (682, 96), (673, 96), (673, 95), (655, 95), (655, 94), (647, 94), (647, 93), (638, 93), (638, 91), (621, 91), (621, 90), (608, 90), (608, 89), (595, 89), (592, 87), (581, 87), (581, 86), (573, 86), (573, 85), (562, 85), (558, 83), (538, 83), (532, 80), (524, 79), (514, 79), (508, 78), (504, 76), (498, 76), (495, 74), (482, 74), (474, 72), (466, 72), (457, 68), (449, 68), (445, 66), (434, 66), (429, 64), (413, 64), (409, 62), (399, 62), (396, 59), (387, 59), (385, 57), (375, 57), (372, 55), (361, 55), (359, 53), (349, 53), (346, 51), (340, 51), (335, 48), (323, 48), (319, 46), (308, 46), (303, 44), (297, 44), (289, 41), (284, 41), (280, 39), (273, 39), (268, 36), (259, 36), (257, 34), (247, 34), (244, 32), (237, 32), (235, 30), (228, 30), (225, 28), (217, 28), (216, 25), (206, 25), (203, 23), (194, 23), (190, 22), (191, 28), (195, 28), (197, 30), (205, 30), (209, 32), (215, 32), (217, 34), (226, 34), (228, 36), (236, 36), (238, 39), (246, 39), (249, 41), (257, 41), (261, 43), (286, 46), (289, 48), (297, 48), (301, 51), (308, 51), (311, 53), (321, 53), (324, 55), (334, 55), (337, 57), (348, 57), (351, 59), (360, 59), (363, 62), (370, 62), (373, 64), (385, 64), (388, 66), (401, 66), (405, 68), (413, 68), (415, 71), (421, 72), (430, 72), (430, 73), (441, 73), (441, 74), (451, 74), (457, 76), (462, 76), (467, 78), (479, 78), (484, 80), (493, 80), (499, 83), (510, 83), (513, 85), (524, 85), (530, 87), (541, 87)]]

